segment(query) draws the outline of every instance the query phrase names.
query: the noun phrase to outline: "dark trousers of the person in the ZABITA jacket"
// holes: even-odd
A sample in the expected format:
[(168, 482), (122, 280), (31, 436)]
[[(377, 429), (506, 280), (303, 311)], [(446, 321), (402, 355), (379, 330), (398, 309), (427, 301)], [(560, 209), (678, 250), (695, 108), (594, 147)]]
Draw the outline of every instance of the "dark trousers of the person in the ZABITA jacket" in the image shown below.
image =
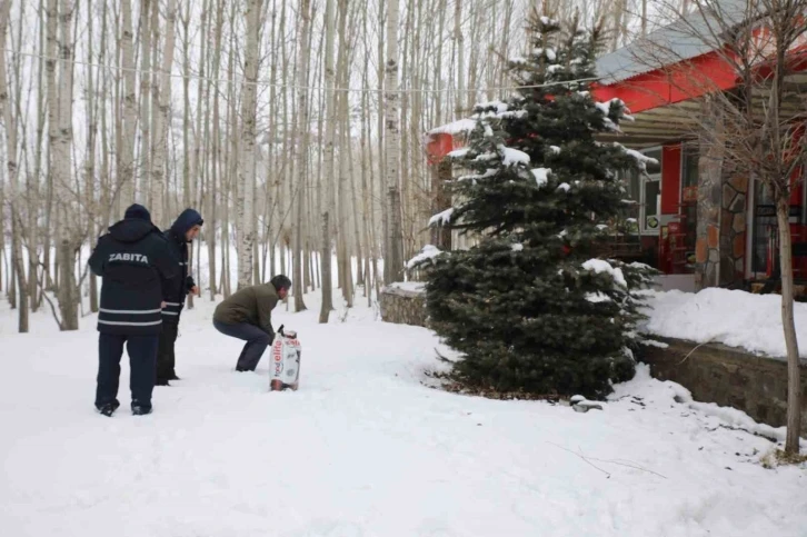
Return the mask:
[(151, 392), (155, 389), (155, 367), (157, 364), (157, 345), (159, 337), (122, 336), (101, 334), (98, 338), (98, 388), (96, 389), (96, 407), (118, 402), (118, 382), (120, 381), (120, 359), (123, 356), (123, 344), (129, 354), (131, 368), (132, 406), (151, 408)]

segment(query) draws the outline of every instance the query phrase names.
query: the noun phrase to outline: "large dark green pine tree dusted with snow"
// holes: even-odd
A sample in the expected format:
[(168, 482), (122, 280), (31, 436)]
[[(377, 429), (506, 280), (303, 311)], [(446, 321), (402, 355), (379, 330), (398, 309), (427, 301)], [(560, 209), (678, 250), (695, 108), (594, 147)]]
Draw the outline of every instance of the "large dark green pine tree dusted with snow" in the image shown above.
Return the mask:
[(620, 101), (589, 93), (599, 28), (530, 20), (534, 50), (511, 61), (522, 88), (479, 105), (468, 146), (450, 158), (469, 170), (456, 206), (432, 217), (479, 238), (469, 250), (427, 249), (430, 321), (461, 354), (450, 377), (471, 389), (602, 397), (632, 377), (630, 348), (650, 269), (600, 259), (625, 208), (617, 170), (636, 151), (599, 143), (629, 118)]

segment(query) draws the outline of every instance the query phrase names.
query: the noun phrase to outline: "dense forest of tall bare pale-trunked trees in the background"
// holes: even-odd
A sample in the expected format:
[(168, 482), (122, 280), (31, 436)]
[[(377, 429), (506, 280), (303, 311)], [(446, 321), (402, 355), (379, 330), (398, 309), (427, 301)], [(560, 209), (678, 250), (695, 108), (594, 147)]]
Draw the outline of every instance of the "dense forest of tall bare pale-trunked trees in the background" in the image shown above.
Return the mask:
[(136, 201), (161, 229), (202, 212), (209, 299), (285, 272), (296, 310), (321, 290), (321, 321), (371, 301), (429, 241), (424, 133), (508, 95), (527, 12), (604, 18), (616, 48), (676, 16), (662, 3), (2, 0), (0, 288), (20, 331), (40, 308), (64, 330), (97, 311), (88, 255)]

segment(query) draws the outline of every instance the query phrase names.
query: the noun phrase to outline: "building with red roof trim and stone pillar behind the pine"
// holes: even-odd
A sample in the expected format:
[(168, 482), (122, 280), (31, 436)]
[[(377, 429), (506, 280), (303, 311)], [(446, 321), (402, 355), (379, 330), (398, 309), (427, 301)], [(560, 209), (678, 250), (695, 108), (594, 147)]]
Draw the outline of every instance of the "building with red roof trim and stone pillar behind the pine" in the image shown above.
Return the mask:
[[(724, 18), (746, 17), (745, 0), (727, 0), (724, 9)], [(648, 166), (647, 175), (625, 178), (637, 220), (629, 257), (669, 275), (675, 281), (670, 287), (687, 290), (747, 288), (775, 277), (778, 258), (776, 211), (767, 189), (700, 136), (710, 96), (734, 91), (740, 82), (719, 52), (724, 43), (717, 37), (706, 38), (717, 34), (716, 26), (694, 14), (602, 56), (597, 64), (601, 79), (594, 91), (599, 101), (621, 99), (635, 117), (621, 125), (621, 133), (604, 136), (602, 141), (619, 141), (659, 162)], [(755, 58), (765, 60), (759, 62), (763, 70), (773, 44), (770, 32), (764, 18), (751, 28)], [(793, 69), (785, 83), (794, 97), (787, 106), (798, 116), (799, 110), (807, 112), (807, 100), (801, 98), (807, 97), (807, 33), (787, 52)], [(445, 155), (444, 149), (452, 147), (450, 135), (432, 136), (429, 152)], [(797, 279), (807, 278), (804, 176), (799, 168), (791, 178)]]

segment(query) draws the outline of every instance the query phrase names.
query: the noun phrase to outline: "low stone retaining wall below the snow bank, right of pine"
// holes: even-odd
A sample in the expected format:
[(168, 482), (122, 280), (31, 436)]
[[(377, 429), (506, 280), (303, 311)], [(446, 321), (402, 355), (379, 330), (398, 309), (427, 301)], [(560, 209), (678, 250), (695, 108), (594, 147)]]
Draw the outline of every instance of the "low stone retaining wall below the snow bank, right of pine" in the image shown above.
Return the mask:
[[(698, 401), (737, 408), (757, 421), (774, 427), (787, 422), (784, 358), (755, 356), (719, 344), (707, 344), (693, 351), (697, 344), (691, 341), (658, 339), (669, 347), (644, 347), (637, 357), (649, 364), (655, 378), (678, 382)], [(807, 430), (806, 360), (801, 360), (801, 428)]]

